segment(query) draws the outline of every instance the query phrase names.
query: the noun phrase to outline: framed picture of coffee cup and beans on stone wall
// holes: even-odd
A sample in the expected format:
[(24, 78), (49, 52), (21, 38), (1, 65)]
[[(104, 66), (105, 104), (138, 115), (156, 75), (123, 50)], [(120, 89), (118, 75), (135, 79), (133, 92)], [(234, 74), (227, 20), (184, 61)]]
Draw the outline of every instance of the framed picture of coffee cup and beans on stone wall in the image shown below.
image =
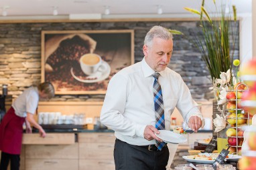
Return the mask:
[(111, 77), (133, 63), (133, 30), (42, 31), (42, 82), (57, 95), (105, 94)]

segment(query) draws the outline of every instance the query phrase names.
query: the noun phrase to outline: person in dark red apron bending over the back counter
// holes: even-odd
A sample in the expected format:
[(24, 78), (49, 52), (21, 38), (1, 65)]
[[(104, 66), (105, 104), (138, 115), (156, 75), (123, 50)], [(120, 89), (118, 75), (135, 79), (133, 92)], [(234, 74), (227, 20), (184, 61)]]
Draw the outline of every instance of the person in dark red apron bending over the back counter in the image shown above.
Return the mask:
[(31, 126), (39, 130), (41, 137), (46, 137), (44, 129), (34, 119), (34, 114), (40, 99), (54, 97), (52, 83), (40, 83), (25, 89), (13, 102), (0, 124), (0, 169), (6, 170), (11, 160), (11, 170), (19, 169), (19, 155), (21, 153), (21, 141), (23, 135), (23, 123), (25, 121), (26, 133), (31, 133)]

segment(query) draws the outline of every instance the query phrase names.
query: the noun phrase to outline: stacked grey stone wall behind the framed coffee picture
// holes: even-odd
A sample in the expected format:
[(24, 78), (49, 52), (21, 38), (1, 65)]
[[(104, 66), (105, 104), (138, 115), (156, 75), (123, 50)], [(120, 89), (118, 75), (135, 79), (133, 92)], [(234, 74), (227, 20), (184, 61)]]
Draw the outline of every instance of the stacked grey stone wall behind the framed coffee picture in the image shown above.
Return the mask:
[[(170, 68), (182, 75), (192, 96), (198, 101), (212, 99), (208, 89), (210, 76), (200, 53), (193, 46), (194, 33), (200, 31), (198, 21), (131, 21), (88, 23), (7, 23), (0, 24), (0, 85), (7, 84), (9, 95), (17, 97), (22, 91), (41, 81), (41, 31), (60, 30), (135, 30), (135, 62), (143, 59), (143, 40), (154, 25), (182, 31), (174, 35), (174, 52)], [(239, 42), (237, 43), (239, 45)], [(236, 53), (239, 53), (237, 46)], [(104, 95), (56, 95), (52, 101), (103, 100)]]

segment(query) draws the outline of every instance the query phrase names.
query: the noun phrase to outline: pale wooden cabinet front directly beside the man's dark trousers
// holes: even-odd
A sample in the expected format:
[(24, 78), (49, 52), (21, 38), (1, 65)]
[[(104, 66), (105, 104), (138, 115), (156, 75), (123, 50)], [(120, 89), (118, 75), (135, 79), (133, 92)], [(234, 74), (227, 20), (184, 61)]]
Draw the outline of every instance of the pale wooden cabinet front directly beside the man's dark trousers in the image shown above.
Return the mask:
[(79, 170), (111, 170), (114, 162), (114, 133), (79, 133)]

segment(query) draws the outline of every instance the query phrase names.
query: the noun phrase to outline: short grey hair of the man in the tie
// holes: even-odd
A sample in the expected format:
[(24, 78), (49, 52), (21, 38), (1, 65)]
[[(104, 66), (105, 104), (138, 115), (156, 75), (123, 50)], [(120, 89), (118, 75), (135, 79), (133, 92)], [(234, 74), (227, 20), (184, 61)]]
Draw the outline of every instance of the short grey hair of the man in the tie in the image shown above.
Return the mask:
[(172, 39), (172, 33), (170, 33), (168, 29), (164, 27), (154, 26), (147, 32), (144, 40), (144, 45), (151, 47), (154, 37), (169, 40)]

